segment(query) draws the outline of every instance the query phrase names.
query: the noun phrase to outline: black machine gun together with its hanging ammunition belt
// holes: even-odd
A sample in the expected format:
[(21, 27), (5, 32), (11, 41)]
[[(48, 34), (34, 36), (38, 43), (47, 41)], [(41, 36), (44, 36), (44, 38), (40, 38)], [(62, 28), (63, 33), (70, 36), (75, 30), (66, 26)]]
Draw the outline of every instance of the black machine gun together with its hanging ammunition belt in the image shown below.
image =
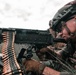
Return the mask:
[[(34, 45), (38, 49), (41, 49), (43, 47), (46, 47), (47, 45), (53, 45), (54, 41), (66, 42), (63, 39), (54, 39), (53, 36), (48, 32), (48, 30), (42, 31), (42, 30), (30, 30), (30, 29), (0, 28), (0, 43), (3, 43), (2, 46), (3, 64), (6, 65), (3, 66), (2, 75), (7, 74), (22, 75), (23, 71), (16, 60), (14, 52), (14, 43), (16, 44), (27, 43)], [(27, 51), (28, 51), (27, 53), (29, 54), (29, 52), (31, 52), (31, 49), (28, 49)], [(19, 55), (22, 55), (23, 53)]]

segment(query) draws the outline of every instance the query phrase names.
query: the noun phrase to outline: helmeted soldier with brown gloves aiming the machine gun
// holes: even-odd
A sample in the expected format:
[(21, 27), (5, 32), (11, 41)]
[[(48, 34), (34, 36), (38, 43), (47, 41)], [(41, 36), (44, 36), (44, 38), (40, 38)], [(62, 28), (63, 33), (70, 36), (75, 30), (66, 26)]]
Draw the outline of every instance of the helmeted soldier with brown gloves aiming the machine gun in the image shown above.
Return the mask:
[[(27, 72), (32, 71), (39, 75), (76, 75), (76, 58), (73, 57), (76, 51), (76, 1), (66, 4), (57, 12), (52, 20), (51, 28), (58, 32), (59, 35), (57, 38), (64, 38), (67, 41), (65, 49), (57, 53), (62, 59), (57, 56), (57, 58), (55, 58), (58, 61), (58, 64), (62, 65), (60, 65), (60, 68), (62, 69), (62, 67), (65, 66), (65, 70), (67, 70), (58, 71), (59, 68), (57, 67), (57, 70), (55, 68), (56, 65), (52, 68), (50, 60), (49, 63), (51, 68), (47, 67), (45, 62), (41, 63), (34, 60), (28, 60), (24, 62)], [(34, 65), (32, 66), (31, 64), (33, 63)]]

